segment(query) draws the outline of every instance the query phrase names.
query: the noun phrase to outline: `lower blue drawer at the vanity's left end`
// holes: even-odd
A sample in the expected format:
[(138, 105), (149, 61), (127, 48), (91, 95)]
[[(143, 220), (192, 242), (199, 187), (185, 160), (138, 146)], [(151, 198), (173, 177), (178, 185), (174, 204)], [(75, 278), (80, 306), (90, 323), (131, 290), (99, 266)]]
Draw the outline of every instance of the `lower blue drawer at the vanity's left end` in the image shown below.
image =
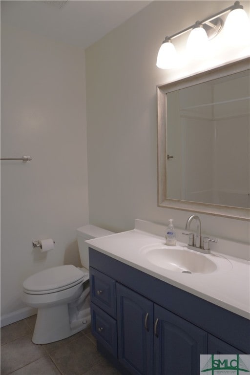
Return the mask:
[(91, 303), (91, 330), (104, 347), (117, 358), (116, 320)]

